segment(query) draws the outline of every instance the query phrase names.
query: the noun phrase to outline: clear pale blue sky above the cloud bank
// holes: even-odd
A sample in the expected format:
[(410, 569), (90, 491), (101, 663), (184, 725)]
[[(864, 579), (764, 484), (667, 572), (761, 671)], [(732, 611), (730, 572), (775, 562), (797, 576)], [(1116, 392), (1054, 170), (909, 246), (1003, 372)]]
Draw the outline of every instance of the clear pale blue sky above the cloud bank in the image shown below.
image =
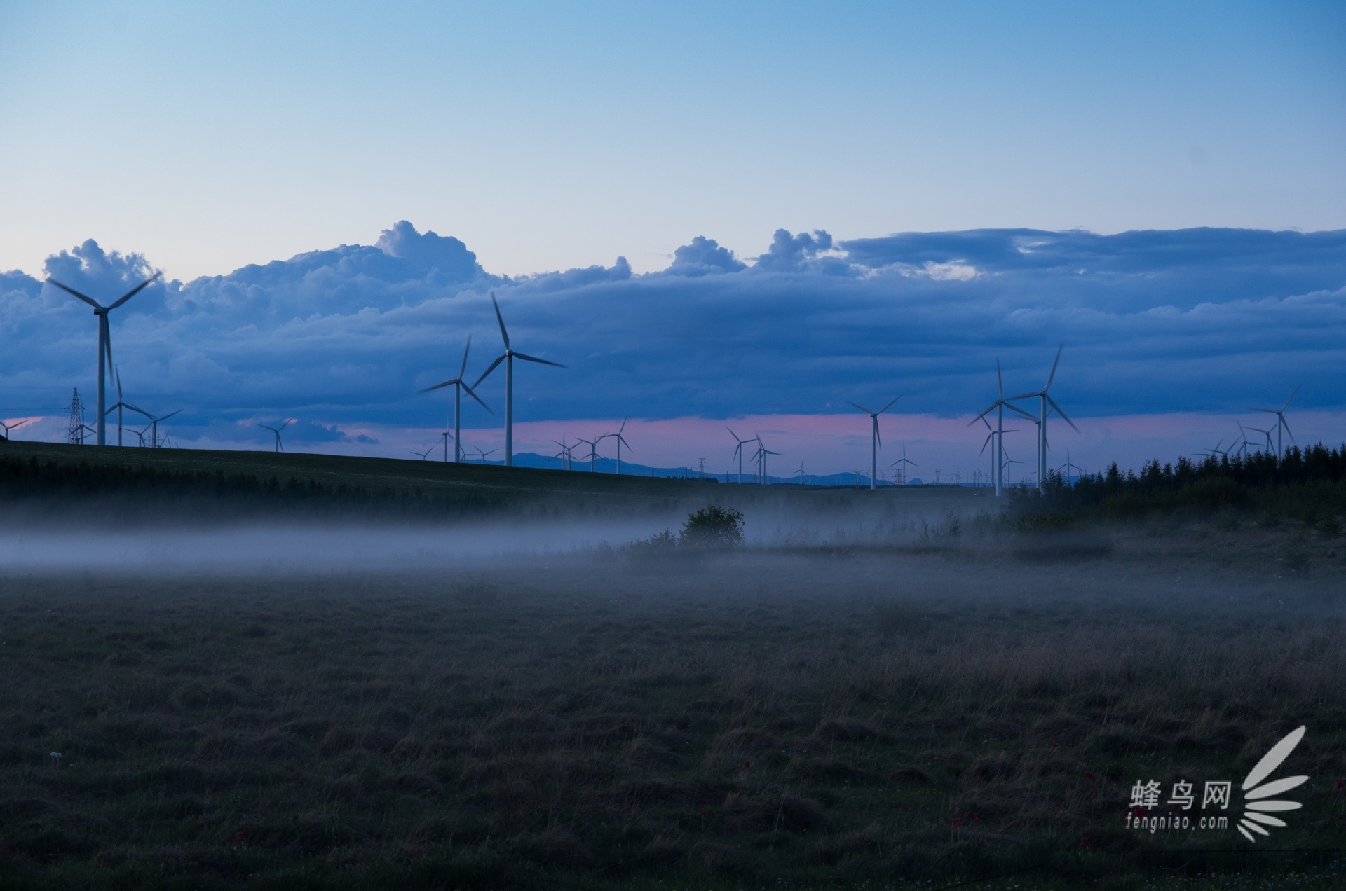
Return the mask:
[(1346, 226), (1339, 3), (0, 4), (0, 268)]

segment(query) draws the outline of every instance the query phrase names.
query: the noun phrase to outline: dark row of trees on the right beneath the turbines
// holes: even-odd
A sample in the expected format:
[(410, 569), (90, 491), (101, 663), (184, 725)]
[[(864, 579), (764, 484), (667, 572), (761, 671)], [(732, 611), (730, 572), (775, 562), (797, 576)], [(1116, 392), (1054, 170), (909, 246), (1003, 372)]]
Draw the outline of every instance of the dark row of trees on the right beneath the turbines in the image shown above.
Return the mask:
[(1046, 491), (1020, 494), (1030, 513), (1132, 517), (1175, 510), (1259, 511), (1271, 520), (1300, 520), (1333, 528), (1346, 514), (1346, 446), (1322, 443), (1291, 447), (1280, 458), (1268, 452), (1179, 458), (1140, 472), (1116, 463), (1074, 483), (1049, 475)]

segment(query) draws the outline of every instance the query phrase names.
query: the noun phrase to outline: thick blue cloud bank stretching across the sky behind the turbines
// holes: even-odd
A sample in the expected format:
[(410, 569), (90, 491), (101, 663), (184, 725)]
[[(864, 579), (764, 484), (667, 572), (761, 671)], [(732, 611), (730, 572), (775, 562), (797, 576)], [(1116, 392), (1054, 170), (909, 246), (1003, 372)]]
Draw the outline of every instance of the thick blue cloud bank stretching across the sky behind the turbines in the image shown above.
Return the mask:
[[(93, 241), (47, 262), (100, 299), (148, 271)], [(520, 421), (810, 415), (899, 393), (903, 412), (950, 417), (993, 398), (997, 357), (1005, 386), (1040, 386), (1059, 343), (1053, 393), (1084, 416), (1242, 411), (1300, 382), (1296, 406), (1346, 401), (1346, 231), (1015, 229), (839, 244), (781, 230), (752, 266), (697, 237), (650, 275), (618, 258), (510, 277), (456, 238), (400, 222), (376, 246), (148, 291), (113, 314), (116, 355), (129, 398), (186, 409), (180, 441), (194, 429), (225, 441), (225, 428), (267, 417), (312, 425), (295, 428), (296, 443), (443, 424), (446, 393), (416, 390), (456, 374), (468, 335), (468, 376), (498, 354), (489, 291), (517, 350), (569, 366), (516, 366)], [(4, 415), (57, 416), (73, 386), (92, 396), (87, 307), (3, 273), (0, 330)], [(498, 371), (482, 385), (497, 413), (468, 405), (471, 424), (501, 423), (502, 388)]]

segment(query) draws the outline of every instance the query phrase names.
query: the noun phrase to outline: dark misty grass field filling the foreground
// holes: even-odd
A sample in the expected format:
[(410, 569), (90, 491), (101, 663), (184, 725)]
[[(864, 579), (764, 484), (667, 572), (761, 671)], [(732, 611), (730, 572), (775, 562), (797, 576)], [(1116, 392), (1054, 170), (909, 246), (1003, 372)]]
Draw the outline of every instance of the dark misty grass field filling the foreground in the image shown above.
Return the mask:
[[(454, 471), (420, 463), (367, 472)], [(750, 526), (810, 494), (777, 489), (742, 495)], [(666, 491), (639, 497), (681, 509)], [(1342, 884), (1346, 542), (1238, 517), (1024, 533), (937, 522), (960, 502), (931, 493), (816, 493), (855, 501), (728, 553), (11, 567), (0, 884)], [(848, 509), (903, 520), (843, 541)], [(1125, 828), (1137, 779), (1237, 787), (1300, 724), (1277, 775), (1310, 775), (1304, 808), (1259, 845)]]

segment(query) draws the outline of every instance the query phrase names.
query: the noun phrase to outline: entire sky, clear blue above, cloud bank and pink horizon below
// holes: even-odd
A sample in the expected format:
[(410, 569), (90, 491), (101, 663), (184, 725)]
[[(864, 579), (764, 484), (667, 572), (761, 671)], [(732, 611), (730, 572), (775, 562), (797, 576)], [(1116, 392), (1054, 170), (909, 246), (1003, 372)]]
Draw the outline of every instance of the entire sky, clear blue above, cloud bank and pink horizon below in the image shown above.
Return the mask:
[(424, 447), (490, 291), (571, 366), (520, 370), (524, 448), (631, 416), (681, 466), (751, 419), (849, 470), (847, 401), (900, 393), (886, 440), (970, 468), (996, 357), (1036, 389), (1062, 343), (1054, 452), (1209, 448), (1300, 385), (1341, 441), (1341, 46), (1333, 3), (0, 1), (0, 413), (54, 439), (93, 392), (44, 276), (155, 269), (114, 357), (183, 444)]

